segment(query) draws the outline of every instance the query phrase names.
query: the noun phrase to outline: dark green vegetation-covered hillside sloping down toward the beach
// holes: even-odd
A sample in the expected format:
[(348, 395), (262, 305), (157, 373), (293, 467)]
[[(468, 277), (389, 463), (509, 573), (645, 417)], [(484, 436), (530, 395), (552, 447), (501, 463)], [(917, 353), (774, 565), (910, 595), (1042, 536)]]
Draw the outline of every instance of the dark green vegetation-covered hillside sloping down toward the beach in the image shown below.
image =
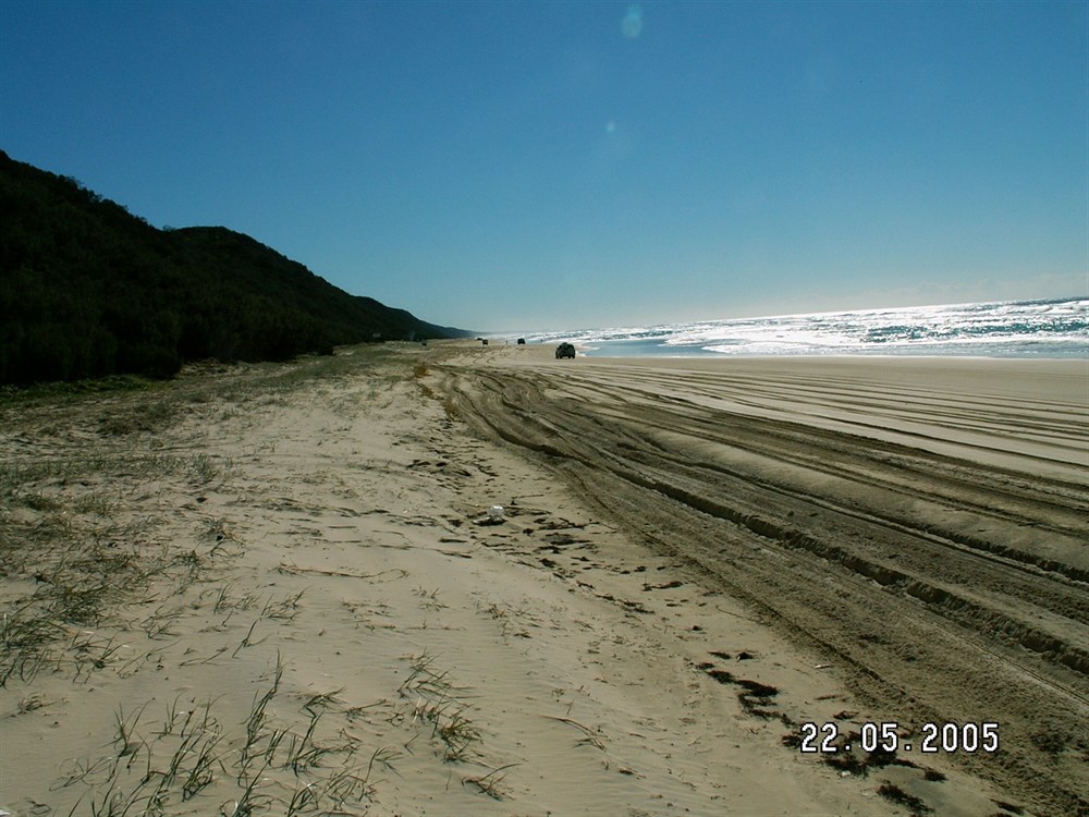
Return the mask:
[(159, 230), (0, 151), (0, 383), (465, 334), (350, 295), (225, 228)]

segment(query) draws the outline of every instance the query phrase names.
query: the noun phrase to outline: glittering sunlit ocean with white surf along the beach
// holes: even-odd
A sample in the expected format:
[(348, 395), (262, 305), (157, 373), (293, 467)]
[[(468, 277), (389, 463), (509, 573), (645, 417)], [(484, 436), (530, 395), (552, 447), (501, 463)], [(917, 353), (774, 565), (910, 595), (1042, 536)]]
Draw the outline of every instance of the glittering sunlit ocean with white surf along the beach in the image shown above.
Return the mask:
[(729, 318), (690, 324), (521, 333), (571, 341), (590, 356), (964, 355), (1089, 359), (1089, 300)]

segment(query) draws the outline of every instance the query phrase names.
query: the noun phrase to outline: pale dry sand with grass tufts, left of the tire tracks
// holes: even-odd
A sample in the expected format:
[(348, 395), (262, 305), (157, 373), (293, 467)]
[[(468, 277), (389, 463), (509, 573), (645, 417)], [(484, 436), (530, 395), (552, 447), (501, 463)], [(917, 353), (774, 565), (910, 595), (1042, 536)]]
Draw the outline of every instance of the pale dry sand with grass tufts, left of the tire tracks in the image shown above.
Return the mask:
[(1028, 805), (943, 757), (784, 746), (803, 712), (877, 715), (690, 560), (469, 434), (430, 355), (0, 405), (0, 812)]

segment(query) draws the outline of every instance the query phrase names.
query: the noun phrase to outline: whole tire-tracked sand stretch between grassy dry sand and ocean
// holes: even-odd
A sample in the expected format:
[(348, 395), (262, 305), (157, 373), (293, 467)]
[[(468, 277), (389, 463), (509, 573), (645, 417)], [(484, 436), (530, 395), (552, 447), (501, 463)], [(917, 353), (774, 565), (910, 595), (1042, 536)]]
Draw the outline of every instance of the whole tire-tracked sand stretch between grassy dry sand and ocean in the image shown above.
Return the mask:
[(1001, 361), (442, 367), (448, 404), (802, 643), (958, 758), (1089, 810), (1089, 373)]

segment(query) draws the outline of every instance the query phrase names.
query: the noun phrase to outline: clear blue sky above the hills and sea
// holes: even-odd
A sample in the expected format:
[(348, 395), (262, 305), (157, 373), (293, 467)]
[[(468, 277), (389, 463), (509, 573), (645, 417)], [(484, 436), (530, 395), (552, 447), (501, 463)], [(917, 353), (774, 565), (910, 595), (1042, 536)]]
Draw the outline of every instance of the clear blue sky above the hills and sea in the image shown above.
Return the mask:
[(0, 0), (0, 149), (433, 322), (1089, 296), (1089, 3)]

